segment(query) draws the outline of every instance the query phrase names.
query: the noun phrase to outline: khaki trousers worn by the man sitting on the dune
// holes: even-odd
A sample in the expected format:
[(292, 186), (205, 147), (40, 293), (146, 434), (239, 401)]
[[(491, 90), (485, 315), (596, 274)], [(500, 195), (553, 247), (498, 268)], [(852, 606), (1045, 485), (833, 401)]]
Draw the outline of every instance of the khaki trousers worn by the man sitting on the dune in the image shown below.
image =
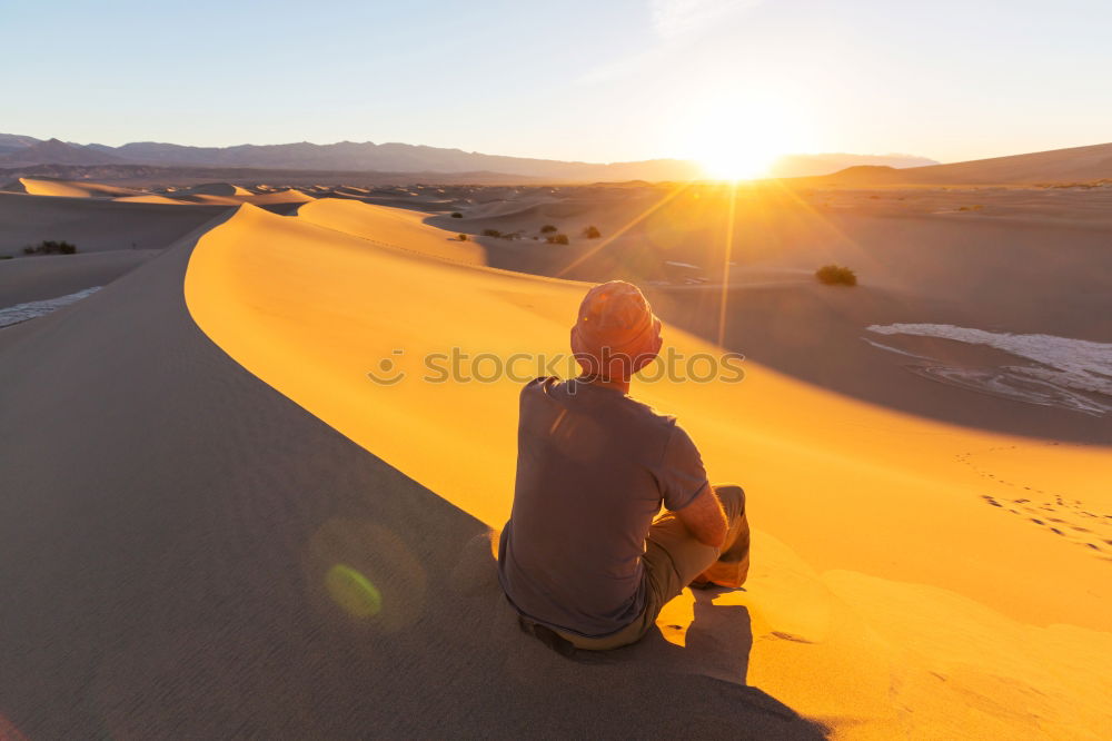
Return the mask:
[(749, 567), (749, 524), (745, 517), (745, 492), (741, 486), (714, 487), (726, 513), (729, 530), (722, 550), (704, 545), (672, 513), (658, 516), (649, 527), (645, 541), (645, 610), (632, 623), (609, 635), (585, 638), (565, 631), (555, 631), (577, 649), (605, 651), (639, 641), (661, 614), (664, 605), (684, 591), (696, 576), (715, 561), (736, 563), (744, 580)]

